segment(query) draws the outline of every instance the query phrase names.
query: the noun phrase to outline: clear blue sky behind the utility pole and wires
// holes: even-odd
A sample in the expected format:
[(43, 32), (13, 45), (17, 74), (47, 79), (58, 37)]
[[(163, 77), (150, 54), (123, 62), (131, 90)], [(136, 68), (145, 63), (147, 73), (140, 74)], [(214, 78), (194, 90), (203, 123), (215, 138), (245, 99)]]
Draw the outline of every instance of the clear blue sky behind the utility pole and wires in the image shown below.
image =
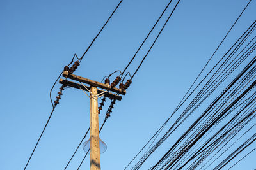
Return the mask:
[[(24, 168), (52, 110), (52, 84), (74, 53), (83, 54), (117, 3), (118, 0), (0, 1), (0, 169)], [(101, 81), (116, 69), (124, 69), (167, 3), (124, 0), (76, 74)], [(108, 145), (101, 157), (102, 169), (123, 169), (163, 124), (246, 3), (180, 1), (100, 134)], [(256, 1), (252, 1), (220, 53), (252, 24), (255, 9)], [(129, 71), (134, 72), (141, 57), (143, 52)], [(220, 55), (214, 58), (218, 59)], [(102, 122), (104, 114), (99, 118)], [(28, 169), (63, 169), (88, 129), (88, 120), (88, 97), (77, 89), (65, 90)], [(83, 155), (80, 148), (70, 169), (77, 169)], [(255, 157), (256, 152), (236, 168), (255, 168)], [(81, 169), (88, 167), (87, 158)]]

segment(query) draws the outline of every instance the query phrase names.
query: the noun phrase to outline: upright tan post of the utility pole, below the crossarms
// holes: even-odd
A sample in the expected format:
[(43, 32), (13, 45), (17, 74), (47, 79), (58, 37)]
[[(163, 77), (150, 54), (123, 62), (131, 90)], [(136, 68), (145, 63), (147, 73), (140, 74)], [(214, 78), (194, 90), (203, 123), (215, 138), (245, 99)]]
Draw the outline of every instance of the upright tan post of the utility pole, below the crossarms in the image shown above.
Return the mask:
[(90, 91), (90, 170), (100, 169), (100, 141), (97, 87), (91, 85)]

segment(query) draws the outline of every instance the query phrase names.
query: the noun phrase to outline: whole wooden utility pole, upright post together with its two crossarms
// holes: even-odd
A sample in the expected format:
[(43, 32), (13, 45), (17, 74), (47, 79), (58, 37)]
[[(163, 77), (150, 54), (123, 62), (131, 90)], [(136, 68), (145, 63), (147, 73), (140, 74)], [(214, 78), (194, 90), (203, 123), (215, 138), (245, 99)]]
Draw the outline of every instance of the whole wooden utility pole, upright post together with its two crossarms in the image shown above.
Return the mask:
[[(79, 81), (80, 83), (63, 79), (60, 79), (59, 83), (90, 92), (90, 170), (100, 170), (98, 97), (106, 96), (109, 97), (109, 99), (116, 99), (120, 101), (122, 96), (117, 94), (125, 95), (126, 92), (125, 90), (111, 87), (109, 83), (99, 83), (98, 81), (69, 74), (68, 71), (63, 72), (63, 77)], [(90, 87), (84, 85), (82, 82), (90, 85)], [(98, 88), (104, 90), (100, 90)], [(113, 94), (111, 92), (115, 92), (117, 94)]]

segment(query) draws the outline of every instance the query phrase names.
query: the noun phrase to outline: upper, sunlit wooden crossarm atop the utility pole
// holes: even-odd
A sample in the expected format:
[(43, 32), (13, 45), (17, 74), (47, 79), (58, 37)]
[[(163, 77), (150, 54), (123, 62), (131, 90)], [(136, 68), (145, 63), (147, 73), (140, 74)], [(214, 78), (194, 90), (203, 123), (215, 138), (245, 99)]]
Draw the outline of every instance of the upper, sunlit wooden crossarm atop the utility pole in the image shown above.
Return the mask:
[(81, 76), (77, 76), (74, 74), (68, 74), (68, 71), (64, 71), (62, 75), (66, 78), (70, 78), (70, 79), (76, 80), (76, 81), (81, 81), (83, 83), (87, 83), (88, 85), (93, 85), (95, 87), (106, 89), (111, 92), (116, 92), (116, 93), (123, 94), (123, 95), (125, 95), (125, 93), (126, 93), (125, 91), (122, 91), (121, 89), (118, 89), (116, 87), (111, 88), (109, 84), (100, 83), (98, 81), (90, 80), (88, 78), (83, 78)]

